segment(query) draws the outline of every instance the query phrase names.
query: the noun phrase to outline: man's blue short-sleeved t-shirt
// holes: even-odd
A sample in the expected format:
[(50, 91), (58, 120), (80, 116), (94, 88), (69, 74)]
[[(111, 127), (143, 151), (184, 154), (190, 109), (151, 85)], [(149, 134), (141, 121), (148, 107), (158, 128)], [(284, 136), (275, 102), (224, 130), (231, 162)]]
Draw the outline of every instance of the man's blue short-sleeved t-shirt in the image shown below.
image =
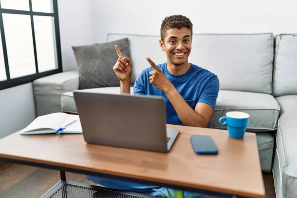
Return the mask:
[[(167, 63), (158, 64), (157, 67), (165, 74), (192, 109), (195, 109), (197, 102), (203, 102), (215, 108), (219, 92), (219, 79), (215, 74), (194, 64), (191, 64), (190, 69), (185, 74), (178, 76), (169, 73)], [(132, 95), (164, 97), (167, 124), (183, 125), (166, 94), (149, 83), (149, 72), (152, 70), (152, 67), (148, 67), (141, 72), (135, 81)]]

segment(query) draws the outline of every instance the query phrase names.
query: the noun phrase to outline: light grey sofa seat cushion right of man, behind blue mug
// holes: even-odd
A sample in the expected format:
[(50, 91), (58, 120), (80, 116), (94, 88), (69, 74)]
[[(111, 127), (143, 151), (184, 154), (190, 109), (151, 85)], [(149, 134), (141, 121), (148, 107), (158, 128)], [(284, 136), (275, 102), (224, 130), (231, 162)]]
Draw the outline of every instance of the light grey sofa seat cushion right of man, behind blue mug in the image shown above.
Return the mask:
[(247, 131), (264, 132), (277, 129), (280, 106), (270, 94), (220, 90), (209, 128), (226, 129), (219, 118), (228, 111), (243, 111), (249, 114)]

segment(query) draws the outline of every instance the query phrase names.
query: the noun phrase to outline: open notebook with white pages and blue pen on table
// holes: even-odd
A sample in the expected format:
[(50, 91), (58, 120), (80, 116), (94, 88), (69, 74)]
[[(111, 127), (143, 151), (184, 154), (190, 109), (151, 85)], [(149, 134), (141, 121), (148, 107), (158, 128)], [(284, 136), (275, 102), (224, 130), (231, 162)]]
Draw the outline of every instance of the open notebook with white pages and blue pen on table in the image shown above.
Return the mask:
[(82, 126), (78, 115), (67, 113), (50, 113), (38, 116), (31, 124), (24, 128), (20, 135), (33, 134), (82, 134)]

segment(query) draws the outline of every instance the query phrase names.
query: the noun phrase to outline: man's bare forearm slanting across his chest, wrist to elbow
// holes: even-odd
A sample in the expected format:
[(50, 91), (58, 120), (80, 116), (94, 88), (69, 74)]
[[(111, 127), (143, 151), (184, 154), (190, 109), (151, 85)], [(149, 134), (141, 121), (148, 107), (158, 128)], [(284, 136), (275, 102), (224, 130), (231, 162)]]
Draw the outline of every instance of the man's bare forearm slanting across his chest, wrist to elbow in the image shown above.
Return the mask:
[(174, 87), (166, 90), (165, 94), (185, 126), (207, 127), (203, 117), (189, 106)]

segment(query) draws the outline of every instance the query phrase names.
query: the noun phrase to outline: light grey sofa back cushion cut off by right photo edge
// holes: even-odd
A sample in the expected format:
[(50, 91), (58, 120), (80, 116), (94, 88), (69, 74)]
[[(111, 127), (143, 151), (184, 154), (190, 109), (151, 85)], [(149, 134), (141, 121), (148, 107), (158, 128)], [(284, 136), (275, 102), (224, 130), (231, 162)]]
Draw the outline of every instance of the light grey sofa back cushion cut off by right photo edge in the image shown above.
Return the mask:
[(273, 94), (297, 94), (297, 34), (275, 37)]

